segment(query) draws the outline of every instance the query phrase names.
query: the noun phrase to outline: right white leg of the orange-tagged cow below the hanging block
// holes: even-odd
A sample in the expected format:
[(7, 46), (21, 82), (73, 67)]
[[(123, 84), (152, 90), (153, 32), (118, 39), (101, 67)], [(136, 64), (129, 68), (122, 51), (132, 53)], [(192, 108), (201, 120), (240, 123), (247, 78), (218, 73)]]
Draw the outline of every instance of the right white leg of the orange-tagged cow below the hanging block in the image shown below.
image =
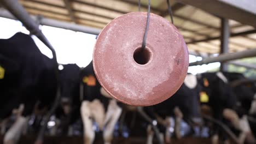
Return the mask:
[[(116, 100), (111, 100), (108, 105), (107, 116), (111, 114), (109, 122), (105, 121), (106, 129), (103, 131), (103, 138), (105, 144), (110, 144), (113, 139), (113, 131), (115, 124), (118, 122), (119, 117), (121, 116), (122, 109), (117, 105)], [(110, 114), (108, 114), (110, 113)], [(106, 116), (106, 117), (107, 117)], [(106, 118), (107, 119), (107, 118)]]

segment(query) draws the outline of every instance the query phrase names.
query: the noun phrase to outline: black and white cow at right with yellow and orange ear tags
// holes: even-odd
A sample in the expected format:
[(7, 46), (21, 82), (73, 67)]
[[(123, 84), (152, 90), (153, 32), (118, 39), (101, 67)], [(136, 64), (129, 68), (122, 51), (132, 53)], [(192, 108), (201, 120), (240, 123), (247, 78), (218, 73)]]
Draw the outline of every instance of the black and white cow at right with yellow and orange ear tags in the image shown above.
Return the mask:
[[(218, 72), (200, 74), (198, 76), (199, 81), (202, 85), (202, 91), (205, 93), (200, 97), (207, 97), (204, 98), (207, 100), (203, 101), (203, 105), (210, 106), (213, 117), (233, 129), (234, 132), (239, 135), (237, 142), (243, 143), (246, 140), (247, 134), (251, 133), (246, 116), (242, 116), (245, 109), (249, 110), (247, 106), (242, 107), (242, 105), (244, 105), (243, 100), (247, 99), (246, 97), (253, 97), (253, 95), (245, 91), (245, 87), (243, 86), (240, 88), (232, 88), (229, 85), (229, 79), (231, 80), (232, 76), (229, 77), (229, 79), (227, 79), (227, 76), (231, 76), (231, 73), (223, 74), (222, 72)], [(249, 105), (251, 106), (251, 104)], [(240, 117), (238, 113), (241, 113)], [(218, 125), (215, 125), (214, 129), (214, 133), (216, 133), (213, 136), (214, 143), (217, 143), (217, 134), (222, 135), (222, 138), (226, 140), (225, 134), (219, 130)], [(239, 131), (241, 131), (241, 133), (239, 133)]]

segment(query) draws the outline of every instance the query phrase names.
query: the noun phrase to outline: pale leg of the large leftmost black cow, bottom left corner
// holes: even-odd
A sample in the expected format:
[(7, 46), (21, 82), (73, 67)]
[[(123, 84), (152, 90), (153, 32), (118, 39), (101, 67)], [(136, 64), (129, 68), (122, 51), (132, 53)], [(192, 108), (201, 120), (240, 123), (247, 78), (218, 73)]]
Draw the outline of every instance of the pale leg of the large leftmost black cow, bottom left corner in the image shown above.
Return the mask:
[(17, 143), (21, 134), (22, 130), (24, 129), (25, 125), (27, 124), (27, 118), (26, 117), (18, 117), (18, 119), (15, 121), (15, 123), (11, 126), (11, 128), (7, 131), (7, 133), (4, 135), (4, 144), (10, 144), (10, 143)]

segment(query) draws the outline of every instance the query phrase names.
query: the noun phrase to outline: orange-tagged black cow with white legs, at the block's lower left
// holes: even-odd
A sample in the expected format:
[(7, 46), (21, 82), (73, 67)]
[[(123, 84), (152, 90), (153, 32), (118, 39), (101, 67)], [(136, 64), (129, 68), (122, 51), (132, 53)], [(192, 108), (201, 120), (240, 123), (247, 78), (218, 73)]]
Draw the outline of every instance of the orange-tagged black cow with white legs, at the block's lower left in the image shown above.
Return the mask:
[(83, 102), (80, 108), (84, 124), (84, 143), (94, 141), (94, 122), (103, 130), (104, 143), (111, 143), (114, 125), (121, 115), (121, 107), (117, 101), (101, 88), (97, 81), (92, 62), (80, 73)]

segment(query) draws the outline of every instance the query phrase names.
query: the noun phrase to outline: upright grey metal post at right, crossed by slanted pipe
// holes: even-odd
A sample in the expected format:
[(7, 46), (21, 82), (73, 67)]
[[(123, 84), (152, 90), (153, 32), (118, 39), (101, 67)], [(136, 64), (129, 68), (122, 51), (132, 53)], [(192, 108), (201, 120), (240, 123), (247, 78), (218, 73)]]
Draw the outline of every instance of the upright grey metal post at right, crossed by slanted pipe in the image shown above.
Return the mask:
[[(229, 52), (229, 20), (225, 18), (221, 19), (221, 32), (220, 32), (220, 53), (228, 53)], [(220, 71), (228, 71), (228, 64), (222, 62), (220, 63)]]

